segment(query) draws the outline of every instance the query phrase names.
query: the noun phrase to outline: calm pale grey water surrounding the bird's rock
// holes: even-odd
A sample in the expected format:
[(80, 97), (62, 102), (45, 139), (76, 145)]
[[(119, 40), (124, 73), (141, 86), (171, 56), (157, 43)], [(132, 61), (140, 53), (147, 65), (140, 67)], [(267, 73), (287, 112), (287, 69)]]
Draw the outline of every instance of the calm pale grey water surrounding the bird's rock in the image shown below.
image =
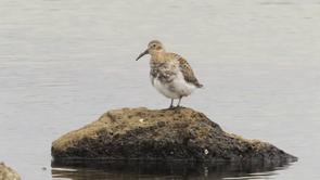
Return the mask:
[[(133, 61), (152, 39), (189, 60), (205, 85), (184, 106), (299, 162), (174, 173), (51, 167), (51, 142), (105, 111), (168, 106), (150, 85), (148, 59)], [(319, 59), (319, 0), (0, 0), (0, 160), (26, 180), (320, 179)]]

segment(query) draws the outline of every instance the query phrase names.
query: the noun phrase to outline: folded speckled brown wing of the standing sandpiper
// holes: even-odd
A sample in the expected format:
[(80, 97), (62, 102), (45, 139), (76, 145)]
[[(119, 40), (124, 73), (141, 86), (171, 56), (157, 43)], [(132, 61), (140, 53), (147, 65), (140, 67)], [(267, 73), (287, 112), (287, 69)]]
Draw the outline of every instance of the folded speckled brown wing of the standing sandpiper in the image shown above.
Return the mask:
[(189, 63), (187, 62), (187, 60), (184, 60), (182, 56), (175, 54), (175, 56), (177, 57), (176, 60), (179, 63), (179, 68), (184, 77), (184, 80), (189, 83), (193, 83), (194, 86), (196, 86), (197, 88), (203, 87), (203, 85), (201, 85), (199, 82), (199, 80), (196, 79), (191, 66), (189, 65)]

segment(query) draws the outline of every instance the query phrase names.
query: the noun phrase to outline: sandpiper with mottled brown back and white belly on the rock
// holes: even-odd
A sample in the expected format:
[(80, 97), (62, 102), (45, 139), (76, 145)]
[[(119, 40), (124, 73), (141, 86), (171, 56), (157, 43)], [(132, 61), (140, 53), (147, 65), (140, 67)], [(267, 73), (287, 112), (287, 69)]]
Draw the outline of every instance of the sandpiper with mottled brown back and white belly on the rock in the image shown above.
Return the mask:
[(163, 43), (152, 40), (148, 49), (142, 52), (136, 61), (145, 54), (150, 54), (150, 78), (155, 89), (171, 99), (170, 107), (174, 107), (174, 100), (190, 95), (195, 89), (202, 88), (189, 63), (180, 55), (166, 52)]

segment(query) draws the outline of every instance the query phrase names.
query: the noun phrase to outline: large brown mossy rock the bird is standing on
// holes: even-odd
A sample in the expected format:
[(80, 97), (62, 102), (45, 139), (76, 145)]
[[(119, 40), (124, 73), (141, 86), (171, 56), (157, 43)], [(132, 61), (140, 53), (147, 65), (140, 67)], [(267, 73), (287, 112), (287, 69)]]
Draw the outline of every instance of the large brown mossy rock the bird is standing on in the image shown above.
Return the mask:
[(121, 108), (52, 143), (54, 160), (139, 159), (267, 163), (297, 158), (258, 140), (225, 132), (191, 108)]

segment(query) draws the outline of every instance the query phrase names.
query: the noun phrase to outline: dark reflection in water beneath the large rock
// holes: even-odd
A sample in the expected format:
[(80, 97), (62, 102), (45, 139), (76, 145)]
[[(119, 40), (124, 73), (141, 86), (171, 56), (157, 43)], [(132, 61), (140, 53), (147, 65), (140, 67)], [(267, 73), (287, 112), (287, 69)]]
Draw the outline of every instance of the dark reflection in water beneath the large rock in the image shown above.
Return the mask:
[(287, 163), (145, 163), (145, 162), (67, 162), (52, 163), (53, 179), (267, 179)]

